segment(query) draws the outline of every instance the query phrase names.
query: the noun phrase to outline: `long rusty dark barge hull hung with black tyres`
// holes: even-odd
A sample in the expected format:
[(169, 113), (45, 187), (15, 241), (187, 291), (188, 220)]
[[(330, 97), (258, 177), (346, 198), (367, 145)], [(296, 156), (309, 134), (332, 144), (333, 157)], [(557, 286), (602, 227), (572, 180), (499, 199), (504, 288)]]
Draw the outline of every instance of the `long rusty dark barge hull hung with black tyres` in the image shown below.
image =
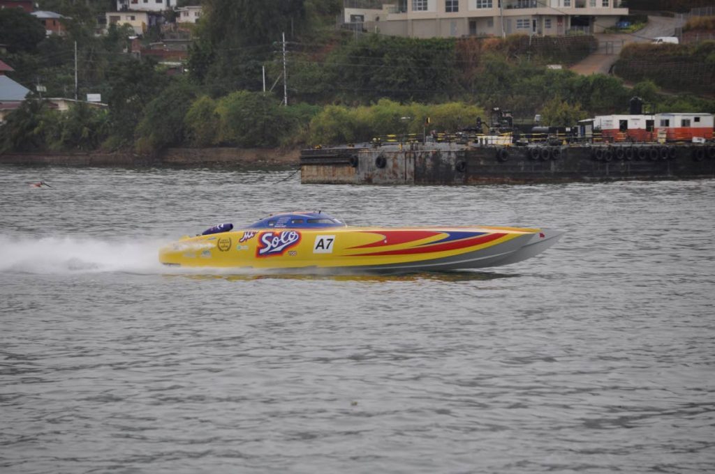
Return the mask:
[(715, 178), (715, 143), (304, 150), (302, 183), (479, 185)]

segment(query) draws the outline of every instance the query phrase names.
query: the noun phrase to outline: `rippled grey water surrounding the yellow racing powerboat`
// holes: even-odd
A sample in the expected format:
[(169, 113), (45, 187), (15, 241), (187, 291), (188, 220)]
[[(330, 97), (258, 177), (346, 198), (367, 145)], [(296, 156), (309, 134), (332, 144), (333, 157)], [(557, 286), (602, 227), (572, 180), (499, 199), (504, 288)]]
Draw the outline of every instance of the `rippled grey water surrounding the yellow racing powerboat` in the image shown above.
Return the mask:
[[(715, 181), (291, 173), (0, 167), (2, 473), (714, 471)], [(184, 233), (295, 208), (568, 233), (483, 272), (157, 264)]]

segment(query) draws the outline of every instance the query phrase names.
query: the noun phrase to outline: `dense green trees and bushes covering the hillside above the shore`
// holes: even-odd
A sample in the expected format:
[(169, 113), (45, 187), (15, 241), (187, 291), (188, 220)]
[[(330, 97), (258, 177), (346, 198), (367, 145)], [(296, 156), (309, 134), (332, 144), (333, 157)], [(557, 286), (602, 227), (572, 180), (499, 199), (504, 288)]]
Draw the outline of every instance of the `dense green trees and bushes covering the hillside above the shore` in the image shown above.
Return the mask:
[[(640, 56), (629, 49), (618, 72), (638, 82), (633, 91), (613, 76), (545, 67), (586, 56), (594, 47), (590, 36), (420, 40), (336, 34), (340, 0), (204, 0), (189, 73), (167, 76), (154, 62), (123, 52), (132, 31), (112, 26), (109, 34), (94, 36), (94, 16), (107, 3), (41, 2), (42, 8), (72, 16), (64, 37), (45, 38), (34, 18), (0, 11), (0, 42), (8, 45), (2, 59), (16, 69), (13, 79), (28, 87), (46, 86), (46, 96), (73, 97), (77, 41), (79, 98), (101, 93), (109, 104), (104, 110), (81, 105), (59, 114), (42, 101), (26, 101), (0, 128), (0, 151), (133, 148), (155, 153), (169, 146), (363, 141), (386, 133), (422, 133), (427, 117), (430, 129), (456, 131), (485, 118), (492, 106), (511, 109), (521, 119), (541, 114), (546, 123), (571, 125), (592, 114), (626, 111), (633, 94), (659, 110), (715, 111), (713, 101), (660, 94), (656, 84), (671, 84), (659, 77), (649, 81), (653, 74), (628, 75), (624, 61)], [(288, 107), (282, 106), (284, 31)], [(669, 46), (656, 48), (665, 54)], [(682, 50), (681, 56), (710, 64), (708, 48)], [(262, 92), (263, 67), (267, 93)]]

